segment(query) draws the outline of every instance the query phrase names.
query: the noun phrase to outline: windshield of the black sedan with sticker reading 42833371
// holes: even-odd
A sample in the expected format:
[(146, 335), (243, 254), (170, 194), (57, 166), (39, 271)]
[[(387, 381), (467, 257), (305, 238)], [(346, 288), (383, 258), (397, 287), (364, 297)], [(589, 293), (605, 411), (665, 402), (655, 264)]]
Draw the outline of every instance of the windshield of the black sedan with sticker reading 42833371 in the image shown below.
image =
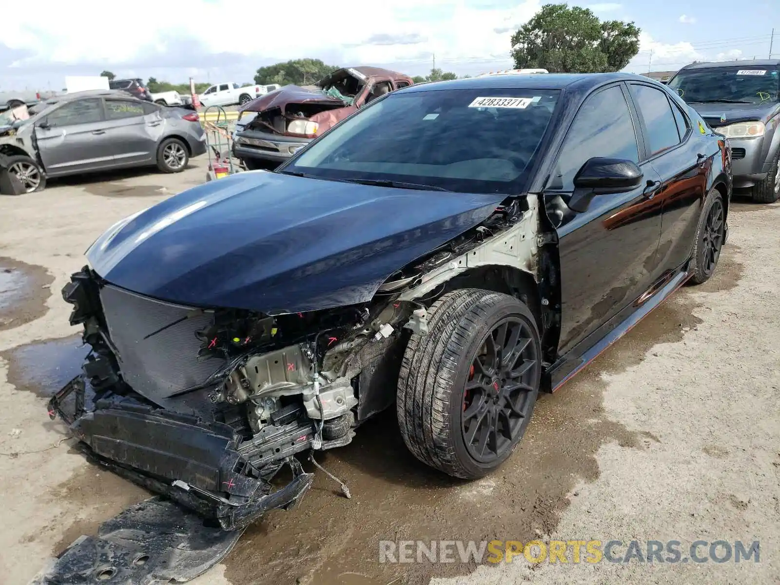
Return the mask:
[(390, 94), (279, 170), (463, 193), (519, 193), (559, 94), (522, 89)]

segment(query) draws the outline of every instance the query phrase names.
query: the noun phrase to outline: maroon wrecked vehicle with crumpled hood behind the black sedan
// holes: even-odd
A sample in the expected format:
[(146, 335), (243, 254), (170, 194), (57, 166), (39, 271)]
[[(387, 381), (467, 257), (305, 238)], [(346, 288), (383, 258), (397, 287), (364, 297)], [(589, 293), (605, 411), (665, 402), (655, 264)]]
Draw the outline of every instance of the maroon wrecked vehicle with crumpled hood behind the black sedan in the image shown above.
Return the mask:
[(389, 69), (346, 67), (314, 89), (285, 85), (241, 108), (233, 154), (250, 169), (278, 165), (374, 98), (413, 83)]

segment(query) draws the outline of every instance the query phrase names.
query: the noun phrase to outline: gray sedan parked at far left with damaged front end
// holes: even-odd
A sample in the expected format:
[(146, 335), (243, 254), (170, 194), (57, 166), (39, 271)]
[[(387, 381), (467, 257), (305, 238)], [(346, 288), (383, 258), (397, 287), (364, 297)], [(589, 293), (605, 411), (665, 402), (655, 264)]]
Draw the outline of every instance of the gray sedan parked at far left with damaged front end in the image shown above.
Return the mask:
[(156, 165), (180, 172), (205, 154), (197, 112), (97, 90), (51, 98), (0, 121), (0, 154), (27, 193), (46, 179), (114, 168)]

